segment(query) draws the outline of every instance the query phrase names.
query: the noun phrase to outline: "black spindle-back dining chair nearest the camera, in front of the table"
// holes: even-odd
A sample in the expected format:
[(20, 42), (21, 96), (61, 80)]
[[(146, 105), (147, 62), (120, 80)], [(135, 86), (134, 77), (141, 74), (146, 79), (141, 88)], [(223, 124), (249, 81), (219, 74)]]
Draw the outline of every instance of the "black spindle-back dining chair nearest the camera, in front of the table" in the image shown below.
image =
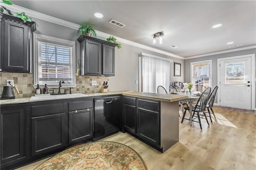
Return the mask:
[[(206, 88), (206, 90), (204, 90), (204, 92), (202, 92), (202, 94), (198, 98), (198, 101), (196, 102), (196, 105), (193, 106), (193, 108), (192, 108), (193, 117), (195, 116), (195, 113), (196, 113), (195, 117), (198, 118), (198, 121), (195, 121), (193, 119), (192, 119), (192, 121), (198, 122), (200, 124), (200, 129), (202, 129), (201, 120), (200, 120), (200, 113), (203, 113), (203, 116), (205, 117), (206, 122), (209, 125), (209, 122), (208, 122), (208, 119), (207, 119), (207, 116), (206, 116), (205, 112), (206, 112), (206, 105), (207, 105), (211, 90), (212, 90), (212, 88), (210, 88), (210, 87)], [(185, 109), (185, 111), (184, 111), (181, 123), (183, 123), (184, 119), (186, 119), (185, 118), (186, 111), (189, 110), (190, 108), (185, 107), (184, 109)], [(187, 119), (187, 120), (190, 120), (190, 119)]]

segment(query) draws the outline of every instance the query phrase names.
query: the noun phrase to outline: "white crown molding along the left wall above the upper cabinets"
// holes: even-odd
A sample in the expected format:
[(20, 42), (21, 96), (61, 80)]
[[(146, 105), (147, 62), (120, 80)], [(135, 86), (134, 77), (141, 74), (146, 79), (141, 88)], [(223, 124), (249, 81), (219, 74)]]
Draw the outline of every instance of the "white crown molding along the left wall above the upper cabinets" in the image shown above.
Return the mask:
[[(78, 29), (78, 27), (79, 27), (79, 25), (76, 24), (76, 23), (72, 23), (72, 22), (65, 21), (65, 20), (62, 20), (62, 19), (59, 19), (59, 18), (56, 18), (56, 17), (52, 17), (52, 16), (49, 16), (49, 15), (46, 15), (46, 14), (42, 14), (40, 12), (36, 12), (34, 10), (29, 10), (27, 8), (23, 8), (21, 6), (17, 6), (17, 5), (14, 5), (14, 4), (13, 5), (1, 4), (1, 5), (5, 6), (6, 8), (8, 8), (9, 10), (11, 10), (13, 12), (25, 12), (26, 15), (28, 15), (32, 18), (37, 18), (37, 19), (40, 19), (40, 20), (48, 21), (48, 22), (55, 23), (55, 24), (58, 24), (58, 25), (62, 25), (64, 27), (69, 27), (69, 28), (72, 28), (72, 29)], [(160, 53), (160, 54), (167, 55), (167, 56), (174, 57), (174, 58), (178, 58), (178, 59), (183, 59), (183, 60), (185, 59), (184, 57), (174, 55), (174, 54), (168, 53), (166, 51), (162, 51), (162, 50), (159, 50), (159, 49), (148, 47), (146, 45), (135, 43), (133, 41), (129, 41), (127, 39), (116, 37), (115, 35), (110, 35), (110, 34), (107, 34), (107, 33), (101, 32), (101, 31), (97, 31), (97, 30), (95, 30), (95, 31), (96, 31), (97, 36), (100, 36), (100, 37), (103, 37), (103, 38), (107, 38), (109, 36), (114, 36), (116, 38), (116, 40), (120, 43), (125, 43), (125, 44), (128, 44), (128, 45), (132, 45), (134, 47), (139, 47), (139, 48), (146, 49), (146, 50), (149, 50), (149, 51), (154, 51), (156, 53)]]

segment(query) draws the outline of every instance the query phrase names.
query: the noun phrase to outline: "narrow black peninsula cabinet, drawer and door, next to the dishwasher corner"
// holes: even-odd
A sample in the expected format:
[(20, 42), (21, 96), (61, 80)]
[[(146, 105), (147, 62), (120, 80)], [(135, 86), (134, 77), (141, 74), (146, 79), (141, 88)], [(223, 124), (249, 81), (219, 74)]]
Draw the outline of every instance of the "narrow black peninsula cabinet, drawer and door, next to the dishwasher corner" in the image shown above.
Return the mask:
[(124, 129), (136, 133), (136, 98), (123, 97), (123, 123)]

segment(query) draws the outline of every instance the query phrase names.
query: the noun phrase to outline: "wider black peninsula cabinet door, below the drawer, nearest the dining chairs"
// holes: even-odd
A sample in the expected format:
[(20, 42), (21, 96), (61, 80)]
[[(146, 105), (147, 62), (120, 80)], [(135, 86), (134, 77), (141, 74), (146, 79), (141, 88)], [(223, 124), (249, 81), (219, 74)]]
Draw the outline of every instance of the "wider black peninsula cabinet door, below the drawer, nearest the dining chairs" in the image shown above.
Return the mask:
[(159, 146), (159, 113), (138, 108), (137, 134), (146, 141)]

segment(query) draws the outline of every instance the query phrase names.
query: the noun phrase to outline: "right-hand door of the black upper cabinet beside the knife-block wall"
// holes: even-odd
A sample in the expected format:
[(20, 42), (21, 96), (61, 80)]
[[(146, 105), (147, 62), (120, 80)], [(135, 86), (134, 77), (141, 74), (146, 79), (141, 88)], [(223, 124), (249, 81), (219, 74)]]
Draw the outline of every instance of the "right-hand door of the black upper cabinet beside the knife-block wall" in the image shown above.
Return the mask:
[(102, 45), (102, 74), (115, 75), (115, 47)]

